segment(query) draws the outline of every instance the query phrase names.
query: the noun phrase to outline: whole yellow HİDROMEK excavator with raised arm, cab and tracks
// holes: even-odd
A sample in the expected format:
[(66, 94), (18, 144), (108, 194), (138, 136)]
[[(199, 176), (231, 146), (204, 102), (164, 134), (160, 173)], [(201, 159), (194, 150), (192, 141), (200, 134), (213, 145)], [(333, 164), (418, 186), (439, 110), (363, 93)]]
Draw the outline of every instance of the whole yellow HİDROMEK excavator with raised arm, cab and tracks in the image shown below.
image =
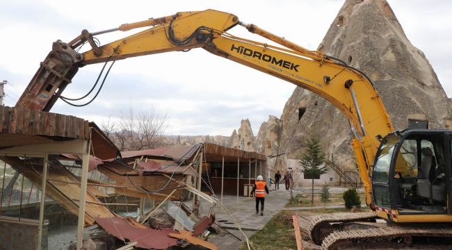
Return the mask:
[[(227, 33), (237, 25), (279, 45)], [(143, 27), (147, 29), (103, 46), (97, 44), (97, 37), (104, 33)], [(90, 49), (79, 53), (83, 44), (89, 44)], [(310, 90), (330, 101), (348, 118), (366, 203), (373, 213), (305, 219), (301, 226), (315, 244), (334, 249), (354, 244), (349, 240), (353, 236), (391, 237), (392, 243), (401, 237), (421, 243), (452, 238), (452, 131), (394, 131), (380, 95), (359, 69), (245, 24), (226, 12), (177, 12), (106, 31), (83, 30), (67, 43), (58, 40), (16, 106), (49, 111), (58, 99), (71, 101), (61, 94), (85, 65), (195, 48)], [(378, 218), (387, 221), (385, 228), (371, 223)], [(355, 232), (357, 222), (362, 222), (359, 233)]]

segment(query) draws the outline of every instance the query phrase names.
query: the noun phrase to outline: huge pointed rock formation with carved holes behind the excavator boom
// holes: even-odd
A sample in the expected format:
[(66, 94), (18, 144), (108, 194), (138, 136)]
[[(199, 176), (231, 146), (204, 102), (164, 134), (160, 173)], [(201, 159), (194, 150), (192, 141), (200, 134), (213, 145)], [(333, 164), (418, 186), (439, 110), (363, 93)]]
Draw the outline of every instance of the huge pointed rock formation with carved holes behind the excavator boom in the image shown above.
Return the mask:
[[(451, 128), (451, 99), (422, 51), (407, 39), (387, 1), (347, 0), (318, 50), (371, 78), (396, 130), (407, 128), (409, 119), (428, 120), (429, 128)], [(296, 88), (281, 120), (279, 153), (298, 158), (296, 138), (316, 131), (326, 153), (334, 153), (335, 159), (352, 156), (346, 118), (312, 92)]]

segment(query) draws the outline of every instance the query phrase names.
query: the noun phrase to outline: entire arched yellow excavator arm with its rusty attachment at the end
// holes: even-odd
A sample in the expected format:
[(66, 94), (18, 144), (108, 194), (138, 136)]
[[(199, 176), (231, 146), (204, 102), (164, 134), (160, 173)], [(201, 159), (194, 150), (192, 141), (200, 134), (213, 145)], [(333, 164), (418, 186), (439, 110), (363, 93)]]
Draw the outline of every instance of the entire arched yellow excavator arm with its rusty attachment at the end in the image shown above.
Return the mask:
[[(283, 47), (237, 38), (225, 32), (237, 24)], [(102, 47), (92, 41), (93, 34), (143, 26), (152, 28)], [(89, 42), (92, 49), (76, 53), (74, 49), (84, 42)], [(369, 79), (357, 69), (334, 63), (319, 51), (309, 51), (257, 26), (243, 24), (229, 13), (216, 10), (178, 12), (99, 33), (83, 31), (69, 44), (57, 41), (16, 106), (50, 110), (79, 67), (84, 65), (195, 48), (289, 81), (320, 95), (341, 110), (358, 131), (352, 142), (353, 151), (366, 189), (366, 200), (371, 205), (369, 172), (380, 144), (376, 136), (386, 135), (394, 129)]]

